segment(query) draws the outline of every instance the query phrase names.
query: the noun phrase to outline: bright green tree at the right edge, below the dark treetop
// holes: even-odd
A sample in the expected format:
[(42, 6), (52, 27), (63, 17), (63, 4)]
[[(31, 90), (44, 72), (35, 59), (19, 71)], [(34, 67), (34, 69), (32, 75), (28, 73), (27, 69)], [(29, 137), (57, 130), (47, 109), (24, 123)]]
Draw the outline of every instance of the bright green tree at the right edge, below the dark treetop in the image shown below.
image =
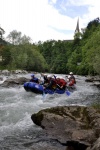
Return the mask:
[(100, 26), (88, 38), (85, 45), (82, 47), (82, 63), (86, 74), (100, 74)]

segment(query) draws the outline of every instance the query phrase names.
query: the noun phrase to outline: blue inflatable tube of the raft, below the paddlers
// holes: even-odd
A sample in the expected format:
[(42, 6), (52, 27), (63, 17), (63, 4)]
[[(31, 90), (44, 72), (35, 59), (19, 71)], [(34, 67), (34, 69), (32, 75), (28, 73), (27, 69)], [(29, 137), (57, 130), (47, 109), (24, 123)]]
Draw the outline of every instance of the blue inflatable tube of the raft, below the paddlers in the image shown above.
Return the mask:
[(64, 94), (65, 90), (60, 90), (60, 89), (55, 89), (55, 90), (51, 90), (51, 89), (44, 89), (42, 85), (34, 83), (34, 82), (26, 82), (24, 83), (24, 89), (26, 91), (31, 91), (37, 94), (43, 94), (43, 93), (48, 93), (48, 94), (54, 94), (54, 93), (58, 93), (58, 94)]

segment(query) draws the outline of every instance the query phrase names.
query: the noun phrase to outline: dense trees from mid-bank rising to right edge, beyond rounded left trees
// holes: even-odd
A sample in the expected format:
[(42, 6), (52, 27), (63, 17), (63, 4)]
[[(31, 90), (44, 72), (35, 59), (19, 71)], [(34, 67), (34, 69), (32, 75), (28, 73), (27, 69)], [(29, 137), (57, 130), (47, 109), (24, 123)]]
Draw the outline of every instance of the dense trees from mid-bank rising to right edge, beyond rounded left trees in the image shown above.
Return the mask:
[[(83, 35), (82, 35), (83, 34)], [(70, 41), (39, 43), (39, 49), (51, 72), (74, 74), (100, 74), (100, 23), (91, 21), (83, 33)], [(81, 39), (79, 36), (81, 35)]]

